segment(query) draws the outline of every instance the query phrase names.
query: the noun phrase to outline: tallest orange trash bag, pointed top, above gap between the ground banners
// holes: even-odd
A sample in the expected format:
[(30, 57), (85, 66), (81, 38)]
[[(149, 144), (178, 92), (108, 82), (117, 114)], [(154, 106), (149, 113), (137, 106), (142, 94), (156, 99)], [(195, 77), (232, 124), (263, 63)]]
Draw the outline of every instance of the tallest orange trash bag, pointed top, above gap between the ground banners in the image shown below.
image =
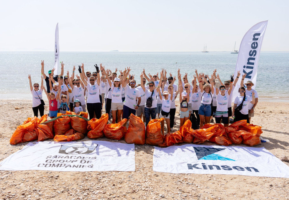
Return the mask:
[(128, 144), (141, 144), (145, 143), (145, 125), (141, 118), (131, 114), (129, 116), (129, 128), (125, 135), (124, 141)]

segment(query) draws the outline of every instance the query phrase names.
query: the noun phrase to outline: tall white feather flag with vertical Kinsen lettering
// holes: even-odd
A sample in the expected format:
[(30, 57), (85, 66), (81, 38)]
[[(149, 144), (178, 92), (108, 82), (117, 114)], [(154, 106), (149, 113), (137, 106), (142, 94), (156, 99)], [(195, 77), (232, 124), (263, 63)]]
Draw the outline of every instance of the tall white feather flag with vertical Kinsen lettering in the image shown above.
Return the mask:
[[(241, 75), (233, 91), (233, 102), (238, 96), (238, 90), (243, 74), (247, 73), (244, 79), (244, 83), (250, 80), (254, 83), (252, 88), (254, 89), (256, 86), (258, 60), (267, 23), (268, 20), (259, 22), (252, 26), (244, 35), (241, 41), (237, 64), (234, 72), (234, 79), (236, 79), (238, 71), (240, 71)], [(242, 87), (244, 86), (242, 85)]]

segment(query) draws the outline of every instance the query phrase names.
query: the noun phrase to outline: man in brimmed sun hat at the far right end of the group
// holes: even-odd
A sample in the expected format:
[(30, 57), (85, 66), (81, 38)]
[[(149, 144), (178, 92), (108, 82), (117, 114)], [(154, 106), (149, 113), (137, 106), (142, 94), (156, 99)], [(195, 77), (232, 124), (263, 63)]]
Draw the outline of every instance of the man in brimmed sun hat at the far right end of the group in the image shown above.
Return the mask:
[[(246, 75), (247, 74), (245, 73), (242, 76), (242, 80), (241, 80), (241, 86), (242, 87), (244, 85), (244, 78), (246, 77)], [(258, 92), (256, 90), (252, 89), (252, 86), (254, 85), (254, 83), (252, 81), (248, 80), (245, 83), (245, 85), (244, 85), (244, 87), (245, 87), (245, 90), (246, 90), (246, 94), (248, 94), (250, 97), (252, 97), (252, 92), (254, 92), (254, 94), (255, 94), (255, 103), (254, 104), (249, 103), (249, 105), (248, 105), (248, 114), (249, 114), (249, 123), (250, 123), (251, 122), (251, 117), (254, 117), (254, 109), (256, 108), (257, 103), (258, 103)]]

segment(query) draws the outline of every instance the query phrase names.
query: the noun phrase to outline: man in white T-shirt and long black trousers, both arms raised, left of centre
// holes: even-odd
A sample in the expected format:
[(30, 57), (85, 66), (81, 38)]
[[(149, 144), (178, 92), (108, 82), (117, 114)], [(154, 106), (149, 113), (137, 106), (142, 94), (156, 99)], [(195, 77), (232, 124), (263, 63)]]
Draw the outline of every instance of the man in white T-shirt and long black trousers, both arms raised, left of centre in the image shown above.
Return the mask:
[[(100, 64), (100, 67), (102, 65)], [(101, 118), (101, 102), (99, 98), (99, 91), (100, 91), (100, 76), (99, 76), (99, 69), (97, 69), (97, 77), (91, 76), (89, 78), (89, 82), (86, 80), (86, 77), (83, 76), (81, 71), (84, 71), (84, 64), (82, 63), (81, 67), (78, 69), (80, 73), (80, 78), (85, 85), (88, 97), (87, 97), (87, 112), (89, 114), (89, 120), (93, 118), (95, 115), (97, 119)], [(78, 78), (78, 77), (77, 77)]]

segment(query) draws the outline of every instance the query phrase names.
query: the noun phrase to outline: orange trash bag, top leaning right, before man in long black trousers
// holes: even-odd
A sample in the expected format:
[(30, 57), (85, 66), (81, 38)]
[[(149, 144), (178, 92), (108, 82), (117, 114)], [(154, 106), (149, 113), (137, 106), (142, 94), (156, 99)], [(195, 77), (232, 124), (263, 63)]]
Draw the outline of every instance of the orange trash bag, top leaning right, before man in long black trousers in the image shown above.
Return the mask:
[(96, 119), (92, 118), (89, 120), (88, 126), (91, 127), (91, 130), (88, 131), (87, 137), (92, 139), (97, 139), (103, 137), (103, 129), (108, 122), (108, 113), (101, 115), (101, 118)]

